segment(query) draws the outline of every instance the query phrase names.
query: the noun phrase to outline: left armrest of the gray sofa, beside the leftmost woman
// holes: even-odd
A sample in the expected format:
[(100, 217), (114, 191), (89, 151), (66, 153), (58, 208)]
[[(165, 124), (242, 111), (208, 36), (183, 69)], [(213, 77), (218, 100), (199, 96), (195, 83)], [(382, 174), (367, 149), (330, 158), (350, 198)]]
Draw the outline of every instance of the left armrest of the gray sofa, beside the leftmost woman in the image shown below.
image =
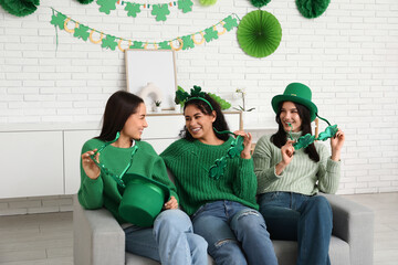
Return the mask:
[(124, 265), (125, 233), (106, 209), (84, 210), (73, 198), (75, 265)]

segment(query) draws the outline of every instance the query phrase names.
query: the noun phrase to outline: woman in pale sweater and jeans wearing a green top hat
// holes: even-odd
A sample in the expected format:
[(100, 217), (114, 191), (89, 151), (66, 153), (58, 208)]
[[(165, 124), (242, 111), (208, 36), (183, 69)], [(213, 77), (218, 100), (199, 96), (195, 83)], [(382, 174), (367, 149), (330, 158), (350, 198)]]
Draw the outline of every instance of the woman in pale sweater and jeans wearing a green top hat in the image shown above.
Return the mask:
[(316, 194), (337, 191), (345, 137), (339, 129), (331, 135), (332, 156), (320, 142), (295, 148), (301, 137), (315, 139), (311, 121), (317, 107), (311, 98), (310, 87), (301, 83), (287, 85), (283, 95), (273, 97), (279, 128), (258, 141), (254, 172), (260, 212), (271, 239), (297, 241), (297, 265), (326, 265), (331, 264), (332, 210), (327, 200)]

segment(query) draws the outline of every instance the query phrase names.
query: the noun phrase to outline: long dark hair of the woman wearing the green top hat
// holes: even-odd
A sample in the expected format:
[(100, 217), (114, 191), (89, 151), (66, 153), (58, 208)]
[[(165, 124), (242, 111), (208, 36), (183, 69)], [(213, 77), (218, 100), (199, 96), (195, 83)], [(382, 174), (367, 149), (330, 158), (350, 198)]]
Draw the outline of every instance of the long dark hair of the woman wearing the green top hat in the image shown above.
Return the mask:
[[(293, 104), (297, 108), (298, 117), (302, 120), (302, 125), (301, 125), (302, 135), (306, 135), (306, 134), (312, 135), (310, 109), (298, 103), (293, 103)], [(279, 148), (284, 146), (287, 141), (287, 132), (283, 129), (283, 125), (281, 121), (282, 105), (283, 102), (280, 103), (280, 105), (277, 106), (277, 113), (275, 117), (275, 120), (277, 123), (277, 131), (271, 136), (271, 141)], [(304, 152), (307, 153), (310, 159), (314, 160), (315, 162), (320, 161), (320, 155), (315, 149), (314, 142), (307, 146), (304, 149)]]

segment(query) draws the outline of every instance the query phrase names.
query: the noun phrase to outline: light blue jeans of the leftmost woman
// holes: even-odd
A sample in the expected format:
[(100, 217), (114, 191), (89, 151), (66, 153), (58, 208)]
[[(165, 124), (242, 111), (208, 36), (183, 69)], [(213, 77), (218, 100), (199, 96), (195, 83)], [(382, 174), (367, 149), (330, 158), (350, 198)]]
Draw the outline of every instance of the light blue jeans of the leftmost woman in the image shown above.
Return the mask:
[(126, 251), (149, 257), (163, 265), (203, 265), (208, 263), (207, 242), (193, 234), (189, 216), (180, 210), (166, 210), (153, 229), (125, 229)]

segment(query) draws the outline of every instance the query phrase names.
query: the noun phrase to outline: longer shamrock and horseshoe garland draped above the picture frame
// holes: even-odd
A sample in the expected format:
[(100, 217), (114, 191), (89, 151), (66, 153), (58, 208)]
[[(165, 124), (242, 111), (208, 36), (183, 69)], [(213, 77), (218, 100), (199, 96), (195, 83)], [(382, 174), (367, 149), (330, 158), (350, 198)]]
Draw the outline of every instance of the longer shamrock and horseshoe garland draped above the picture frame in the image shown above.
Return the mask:
[[(103, 0), (103, 1), (107, 1), (107, 0)], [(74, 23), (74, 28), (70, 28), (71, 21)], [(53, 9), (53, 15), (51, 18), (50, 23), (53, 24), (55, 29), (60, 29), (73, 33), (74, 38), (82, 39), (83, 41), (87, 41), (88, 39), (92, 43), (95, 44), (101, 43), (102, 47), (111, 49), (113, 51), (115, 51), (117, 46), (122, 52), (124, 52), (125, 49), (122, 47), (122, 43), (128, 43), (127, 49), (155, 49), (155, 50), (180, 51), (180, 50), (193, 49), (195, 45), (202, 44), (205, 41), (211, 42), (212, 40), (217, 40), (219, 35), (222, 35), (227, 31), (231, 31), (233, 28), (237, 28), (238, 19), (231, 14), (203, 31), (195, 32), (189, 35), (175, 38), (172, 40), (167, 40), (161, 42), (133, 41), (118, 36), (113, 36), (111, 34), (105, 34), (87, 25), (81, 24), (71, 18), (67, 18), (65, 14), (56, 11), (55, 9)], [(197, 35), (201, 36), (200, 41), (197, 40), (198, 39)], [(96, 38), (96, 40), (94, 40), (94, 38)], [(126, 46), (126, 44), (124, 44), (124, 46)]]

